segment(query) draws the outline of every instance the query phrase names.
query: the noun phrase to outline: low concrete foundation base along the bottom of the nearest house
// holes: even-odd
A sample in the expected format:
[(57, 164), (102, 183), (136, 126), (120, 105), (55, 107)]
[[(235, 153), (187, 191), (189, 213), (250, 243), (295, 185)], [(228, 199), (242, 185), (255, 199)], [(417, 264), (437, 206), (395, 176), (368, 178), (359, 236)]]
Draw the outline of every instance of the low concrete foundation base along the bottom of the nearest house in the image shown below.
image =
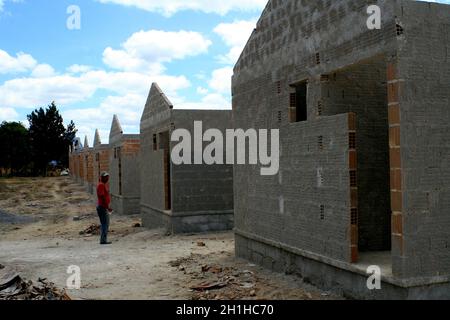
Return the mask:
[(340, 293), (350, 299), (368, 300), (448, 300), (449, 282), (433, 286), (421, 283), (408, 286), (394, 278), (382, 278), (382, 290), (367, 290), (365, 270), (334, 261), (312, 259), (304, 253), (286, 251), (277, 243), (265, 239), (236, 235), (236, 255), (254, 261), (275, 272), (298, 275), (306, 283)]

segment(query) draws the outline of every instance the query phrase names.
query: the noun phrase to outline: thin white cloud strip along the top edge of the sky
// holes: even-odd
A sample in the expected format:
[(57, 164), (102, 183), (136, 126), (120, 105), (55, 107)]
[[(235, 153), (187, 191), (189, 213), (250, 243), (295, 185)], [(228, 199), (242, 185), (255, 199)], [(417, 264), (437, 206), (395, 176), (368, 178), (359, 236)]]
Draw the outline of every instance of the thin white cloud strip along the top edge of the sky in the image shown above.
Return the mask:
[(133, 6), (150, 12), (171, 16), (179, 11), (195, 10), (205, 13), (225, 15), (230, 11), (262, 10), (267, 0), (97, 0), (101, 3), (114, 3)]

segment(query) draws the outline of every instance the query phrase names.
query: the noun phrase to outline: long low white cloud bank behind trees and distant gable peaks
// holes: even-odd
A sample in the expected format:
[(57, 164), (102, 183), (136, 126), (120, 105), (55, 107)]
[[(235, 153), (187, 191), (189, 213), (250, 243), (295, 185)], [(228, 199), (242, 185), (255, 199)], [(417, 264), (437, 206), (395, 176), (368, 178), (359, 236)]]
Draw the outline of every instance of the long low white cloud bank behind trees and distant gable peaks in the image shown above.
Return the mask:
[[(89, 99), (96, 90), (111, 91), (111, 96), (103, 99), (98, 106), (61, 109), (66, 122), (70, 120), (75, 122), (80, 137), (87, 135), (92, 141), (94, 131), (98, 128), (102, 141), (105, 143), (108, 142), (114, 114), (119, 116), (126, 132), (139, 132), (140, 118), (153, 81), (158, 82), (168, 96), (175, 98), (178, 97), (178, 90), (190, 86), (190, 82), (184, 76), (152, 76), (133, 72), (105, 71), (91, 71), (78, 77), (64, 75), (49, 79), (17, 79), (16, 81), (19, 82), (16, 94), (7, 96), (16, 100), (8, 102), (15, 102), (24, 107), (47, 105), (49, 97), (52, 97), (59, 106), (64, 107)], [(10, 90), (12, 89), (8, 88), (6, 92)], [(0, 104), (3, 99), (0, 87)]]

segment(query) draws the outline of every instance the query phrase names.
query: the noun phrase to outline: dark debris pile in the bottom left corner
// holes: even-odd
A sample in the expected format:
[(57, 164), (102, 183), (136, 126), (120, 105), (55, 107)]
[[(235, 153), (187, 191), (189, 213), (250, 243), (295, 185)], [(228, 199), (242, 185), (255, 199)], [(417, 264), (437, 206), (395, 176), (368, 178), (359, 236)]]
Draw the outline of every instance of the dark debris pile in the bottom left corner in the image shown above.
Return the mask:
[[(5, 269), (5, 268), (3, 268)], [(65, 290), (59, 290), (47, 279), (37, 284), (25, 281), (17, 273), (0, 273), (0, 300), (71, 300)]]

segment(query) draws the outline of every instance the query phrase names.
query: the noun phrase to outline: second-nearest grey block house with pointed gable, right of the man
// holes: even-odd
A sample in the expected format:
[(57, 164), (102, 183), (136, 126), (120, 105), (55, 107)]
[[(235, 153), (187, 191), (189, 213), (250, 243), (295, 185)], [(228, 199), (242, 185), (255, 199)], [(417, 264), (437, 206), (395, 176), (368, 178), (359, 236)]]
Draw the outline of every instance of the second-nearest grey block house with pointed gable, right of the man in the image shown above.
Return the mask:
[(233, 167), (174, 165), (171, 133), (194, 135), (194, 121), (208, 128), (231, 126), (230, 111), (173, 110), (153, 84), (141, 119), (141, 214), (144, 227), (171, 233), (229, 230), (233, 227)]

